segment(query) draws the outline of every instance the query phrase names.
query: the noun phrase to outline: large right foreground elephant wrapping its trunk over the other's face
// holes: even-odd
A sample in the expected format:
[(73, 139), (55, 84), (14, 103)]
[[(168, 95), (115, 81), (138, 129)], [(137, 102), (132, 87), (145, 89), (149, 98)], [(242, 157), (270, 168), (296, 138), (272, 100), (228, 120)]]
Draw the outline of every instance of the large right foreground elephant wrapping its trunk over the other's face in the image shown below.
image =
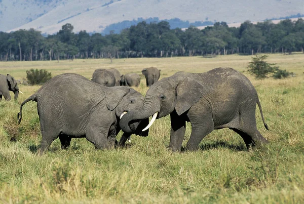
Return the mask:
[(215, 68), (205, 73), (177, 72), (149, 88), (140, 111), (123, 116), (120, 126), (128, 132), (134, 119), (158, 118), (170, 114), (170, 148), (180, 151), (185, 122), (192, 125), (186, 149), (195, 150), (201, 140), (214, 129), (229, 128), (238, 133), (247, 148), (268, 143), (256, 128), (256, 104), (265, 128), (257, 92), (249, 79), (232, 68)]

